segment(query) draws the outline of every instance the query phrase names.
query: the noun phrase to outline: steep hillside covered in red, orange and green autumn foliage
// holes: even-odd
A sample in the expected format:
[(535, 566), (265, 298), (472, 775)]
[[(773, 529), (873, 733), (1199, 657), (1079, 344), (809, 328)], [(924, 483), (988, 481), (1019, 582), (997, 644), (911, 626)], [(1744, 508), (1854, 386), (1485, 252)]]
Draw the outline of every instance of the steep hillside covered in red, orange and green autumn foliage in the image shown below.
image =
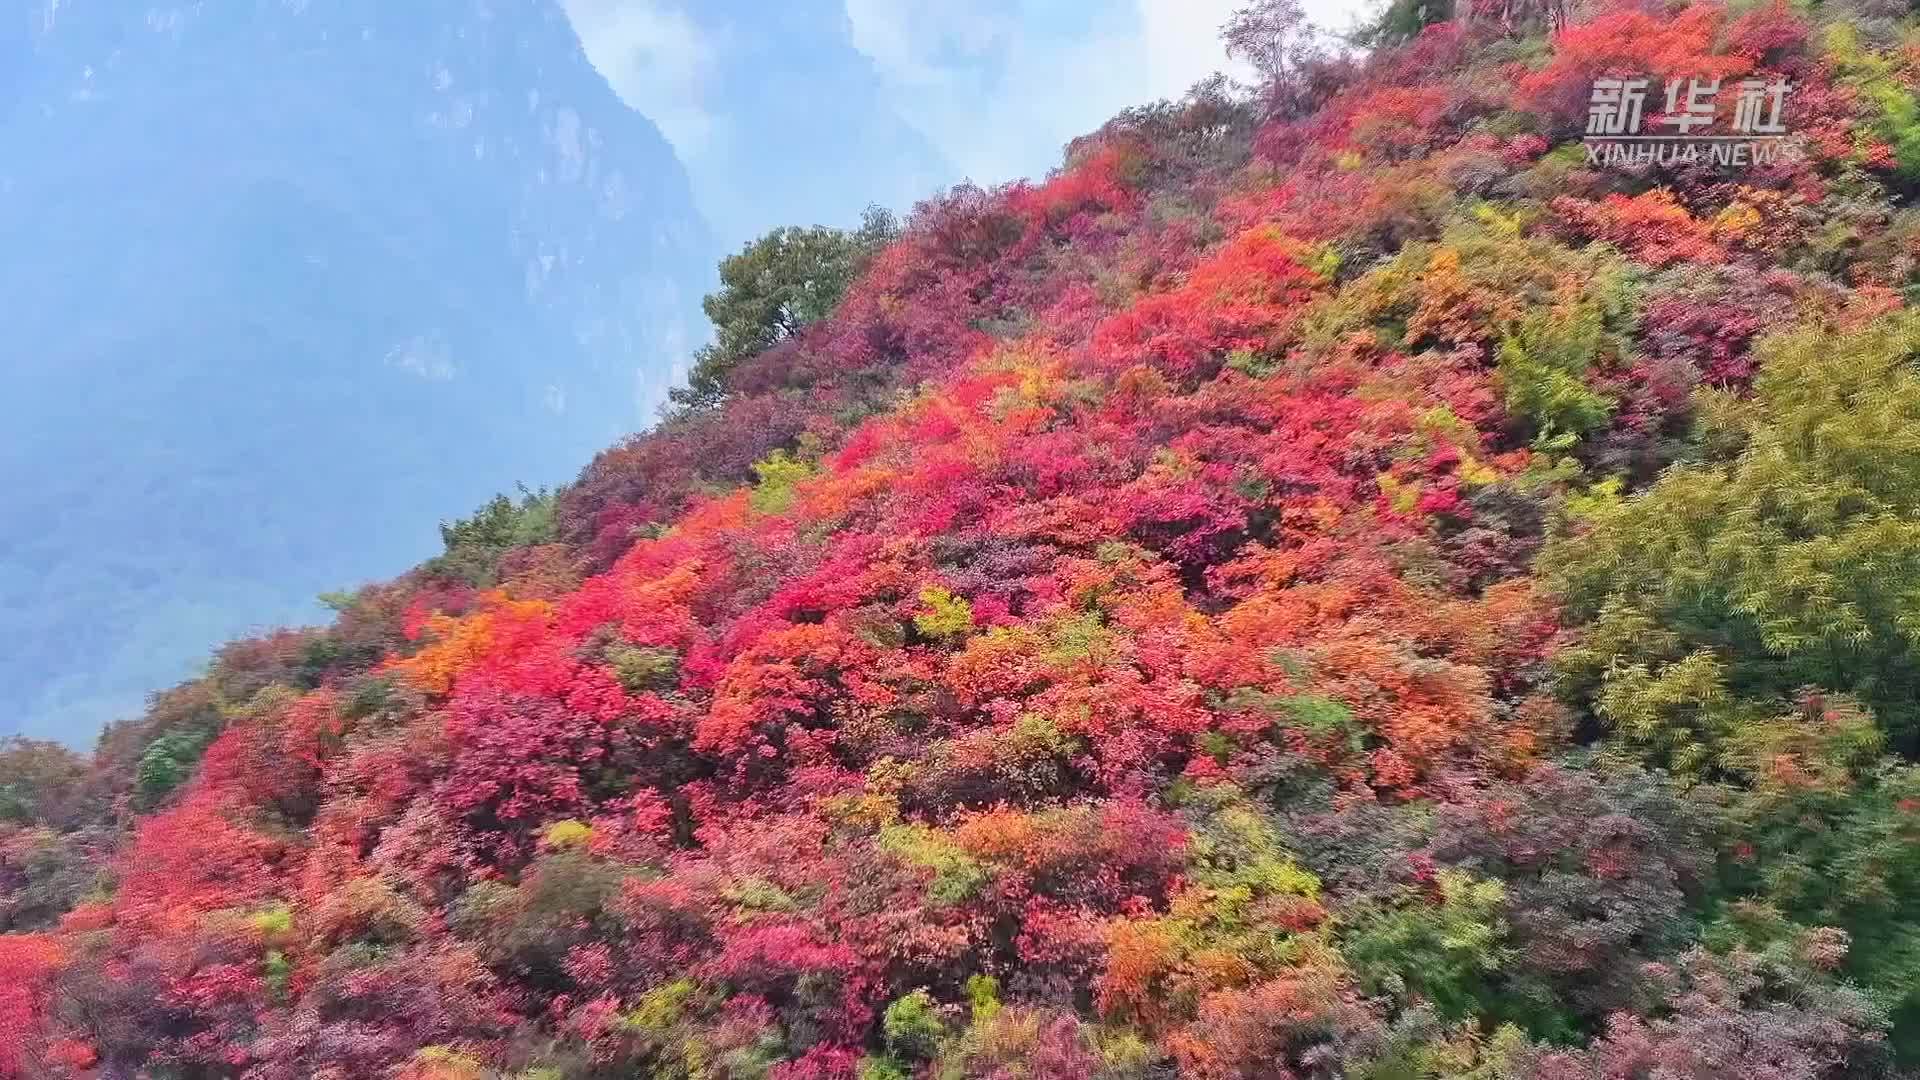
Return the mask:
[(766, 236), (657, 430), (4, 744), (0, 1076), (1920, 1067), (1920, 31), (1461, 13)]

